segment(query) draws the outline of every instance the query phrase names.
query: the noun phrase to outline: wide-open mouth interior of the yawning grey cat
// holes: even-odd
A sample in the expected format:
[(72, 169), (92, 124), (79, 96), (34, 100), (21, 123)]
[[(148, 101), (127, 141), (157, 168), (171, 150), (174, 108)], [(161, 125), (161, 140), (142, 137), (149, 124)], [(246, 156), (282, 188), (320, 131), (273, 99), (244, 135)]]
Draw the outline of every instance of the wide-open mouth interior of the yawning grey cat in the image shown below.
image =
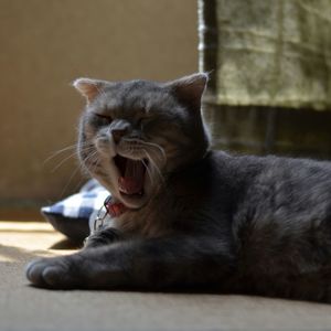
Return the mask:
[(118, 189), (120, 194), (141, 197), (145, 194), (145, 175), (148, 160), (132, 160), (117, 154), (114, 162), (119, 170)]

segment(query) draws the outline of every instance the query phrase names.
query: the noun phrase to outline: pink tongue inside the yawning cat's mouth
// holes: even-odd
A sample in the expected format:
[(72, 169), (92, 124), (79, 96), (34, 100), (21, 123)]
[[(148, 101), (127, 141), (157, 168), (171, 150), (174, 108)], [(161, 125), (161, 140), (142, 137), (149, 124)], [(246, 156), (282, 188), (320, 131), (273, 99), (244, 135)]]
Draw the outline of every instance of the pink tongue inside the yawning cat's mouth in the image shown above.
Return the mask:
[(142, 194), (143, 180), (143, 163), (127, 159), (125, 174), (118, 179), (119, 191), (129, 195)]

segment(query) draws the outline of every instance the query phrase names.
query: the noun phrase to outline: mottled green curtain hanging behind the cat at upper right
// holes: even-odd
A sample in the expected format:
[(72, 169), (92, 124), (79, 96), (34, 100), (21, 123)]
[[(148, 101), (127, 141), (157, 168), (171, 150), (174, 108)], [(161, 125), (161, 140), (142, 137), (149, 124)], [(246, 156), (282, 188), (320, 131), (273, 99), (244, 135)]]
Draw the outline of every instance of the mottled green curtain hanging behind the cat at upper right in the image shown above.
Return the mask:
[(200, 0), (216, 105), (331, 109), (331, 0)]

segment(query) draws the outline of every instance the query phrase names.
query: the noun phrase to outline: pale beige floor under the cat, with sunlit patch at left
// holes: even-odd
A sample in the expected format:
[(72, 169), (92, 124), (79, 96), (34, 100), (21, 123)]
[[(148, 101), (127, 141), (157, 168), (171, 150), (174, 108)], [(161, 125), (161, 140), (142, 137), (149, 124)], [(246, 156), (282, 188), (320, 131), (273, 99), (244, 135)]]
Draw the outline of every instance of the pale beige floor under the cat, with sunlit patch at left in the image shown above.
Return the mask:
[[(70, 254), (46, 223), (0, 223), (0, 330), (331, 330), (331, 305), (220, 295), (52, 291), (24, 265)], [(54, 249), (56, 248), (57, 249)]]

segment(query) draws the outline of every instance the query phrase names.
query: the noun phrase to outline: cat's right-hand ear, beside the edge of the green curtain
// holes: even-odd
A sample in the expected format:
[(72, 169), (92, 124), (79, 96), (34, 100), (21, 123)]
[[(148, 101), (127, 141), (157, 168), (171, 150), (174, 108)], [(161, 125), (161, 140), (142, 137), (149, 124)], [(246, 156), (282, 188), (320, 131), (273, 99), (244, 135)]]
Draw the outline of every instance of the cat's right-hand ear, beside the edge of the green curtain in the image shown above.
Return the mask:
[(185, 105), (200, 111), (201, 98), (206, 87), (209, 75), (196, 73), (190, 76), (169, 82), (168, 85), (172, 93)]

